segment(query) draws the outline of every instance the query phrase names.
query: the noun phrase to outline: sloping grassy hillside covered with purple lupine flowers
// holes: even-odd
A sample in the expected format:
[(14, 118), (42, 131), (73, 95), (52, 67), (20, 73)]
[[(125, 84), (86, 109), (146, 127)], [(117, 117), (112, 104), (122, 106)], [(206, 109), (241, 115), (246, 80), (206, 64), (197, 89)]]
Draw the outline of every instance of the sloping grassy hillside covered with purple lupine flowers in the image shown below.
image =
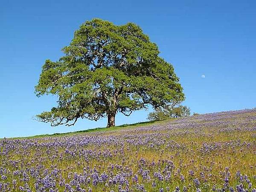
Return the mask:
[(256, 192), (256, 109), (0, 140), (2, 192)]

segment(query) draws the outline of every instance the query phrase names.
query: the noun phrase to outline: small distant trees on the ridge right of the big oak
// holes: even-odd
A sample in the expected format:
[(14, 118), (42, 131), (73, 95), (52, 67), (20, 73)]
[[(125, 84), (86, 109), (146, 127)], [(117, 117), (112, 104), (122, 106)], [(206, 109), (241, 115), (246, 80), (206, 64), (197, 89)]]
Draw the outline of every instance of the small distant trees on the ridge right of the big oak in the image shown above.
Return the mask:
[(158, 121), (169, 118), (178, 118), (182, 116), (189, 116), (190, 108), (183, 105), (178, 105), (177, 107), (169, 106), (167, 109), (157, 108), (154, 112), (148, 114), (148, 119), (150, 121)]

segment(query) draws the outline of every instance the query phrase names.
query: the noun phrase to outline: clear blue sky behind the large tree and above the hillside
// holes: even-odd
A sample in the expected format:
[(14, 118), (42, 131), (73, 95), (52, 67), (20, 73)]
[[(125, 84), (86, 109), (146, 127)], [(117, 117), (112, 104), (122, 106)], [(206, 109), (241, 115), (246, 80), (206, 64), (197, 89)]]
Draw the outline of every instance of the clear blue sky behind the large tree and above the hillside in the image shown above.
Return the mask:
[[(45, 59), (57, 60), (80, 24), (93, 17), (143, 28), (173, 64), (192, 112), (256, 107), (254, 0), (12, 0), (0, 6), (0, 137), (104, 127), (106, 119), (52, 128), (32, 116), (55, 105), (37, 98)], [(201, 75), (205, 75), (202, 78)], [(145, 121), (148, 112), (119, 114), (116, 124)]]

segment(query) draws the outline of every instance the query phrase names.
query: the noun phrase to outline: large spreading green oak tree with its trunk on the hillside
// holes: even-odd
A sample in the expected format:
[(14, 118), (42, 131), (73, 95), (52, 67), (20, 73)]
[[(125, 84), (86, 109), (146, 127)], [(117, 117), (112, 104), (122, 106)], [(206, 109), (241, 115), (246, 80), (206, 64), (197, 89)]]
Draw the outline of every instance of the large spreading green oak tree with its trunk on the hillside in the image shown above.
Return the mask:
[(79, 118), (108, 116), (110, 127), (117, 112), (129, 116), (184, 100), (174, 68), (134, 23), (86, 21), (63, 52), (58, 61), (45, 61), (35, 86), (37, 96), (58, 96), (58, 105), (37, 115), (39, 121), (74, 125)]

